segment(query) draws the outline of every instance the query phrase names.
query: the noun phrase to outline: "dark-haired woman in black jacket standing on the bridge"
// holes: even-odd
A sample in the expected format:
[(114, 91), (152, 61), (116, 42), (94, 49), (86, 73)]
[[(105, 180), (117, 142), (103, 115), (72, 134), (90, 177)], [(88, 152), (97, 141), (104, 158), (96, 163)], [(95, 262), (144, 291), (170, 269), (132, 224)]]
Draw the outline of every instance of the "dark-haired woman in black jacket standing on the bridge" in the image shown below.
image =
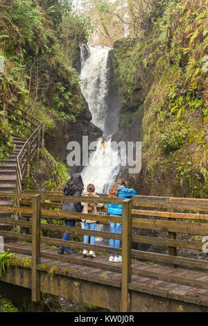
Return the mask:
[[(64, 196), (80, 196), (83, 191), (83, 179), (79, 173), (73, 173), (71, 176), (71, 179), (64, 185)], [(62, 211), (63, 212), (76, 212), (80, 213), (82, 212), (83, 207), (81, 203), (76, 203), (76, 202), (70, 202), (70, 201), (65, 201), (62, 205)], [(76, 221), (80, 221), (79, 219), (76, 218), (62, 218), (64, 221), (66, 221), (66, 225), (68, 227), (73, 228)], [(62, 240), (67, 240), (70, 241), (71, 238), (71, 233), (65, 232)], [(69, 247), (63, 247), (60, 246), (58, 249), (59, 254), (63, 253), (71, 254), (75, 253), (71, 248)]]

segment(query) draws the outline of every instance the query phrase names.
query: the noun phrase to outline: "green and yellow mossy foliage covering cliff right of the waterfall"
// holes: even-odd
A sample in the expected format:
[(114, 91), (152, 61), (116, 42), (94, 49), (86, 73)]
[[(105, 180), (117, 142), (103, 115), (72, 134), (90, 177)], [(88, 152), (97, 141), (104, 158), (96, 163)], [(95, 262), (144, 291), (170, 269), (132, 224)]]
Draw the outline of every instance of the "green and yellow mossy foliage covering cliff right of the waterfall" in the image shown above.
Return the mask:
[(120, 127), (144, 108), (142, 170), (151, 194), (208, 194), (206, 22), (204, 0), (153, 1), (146, 23), (114, 46)]

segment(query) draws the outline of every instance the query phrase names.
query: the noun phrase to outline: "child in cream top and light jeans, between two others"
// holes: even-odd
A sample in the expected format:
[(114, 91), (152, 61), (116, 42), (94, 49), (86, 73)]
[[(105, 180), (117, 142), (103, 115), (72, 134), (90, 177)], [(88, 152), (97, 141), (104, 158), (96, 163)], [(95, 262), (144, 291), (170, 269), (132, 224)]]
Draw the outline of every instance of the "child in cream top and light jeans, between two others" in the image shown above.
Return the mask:
[[(95, 192), (95, 187), (92, 184), (89, 184), (87, 186), (87, 191), (83, 191), (82, 196), (87, 197), (99, 197), (98, 194)], [(83, 214), (97, 214), (97, 207), (103, 207), (103, 204), (100, 203), (82, 203), (83, 207)], [(84, 229), (86, 230), (96, 230), (96, 222), (92, 220), (82, 220), (84, 222)], [(89, 235), (84, 236), (84, 243), (88, 244), (89, 241)], [(90, 237), (90, 244), (94, 245), (96, 242), (95, 237)], [(89, 257), (96, 257), (94, 251), (90, 250), (83, 250), (83, 256), (89, 256)]]

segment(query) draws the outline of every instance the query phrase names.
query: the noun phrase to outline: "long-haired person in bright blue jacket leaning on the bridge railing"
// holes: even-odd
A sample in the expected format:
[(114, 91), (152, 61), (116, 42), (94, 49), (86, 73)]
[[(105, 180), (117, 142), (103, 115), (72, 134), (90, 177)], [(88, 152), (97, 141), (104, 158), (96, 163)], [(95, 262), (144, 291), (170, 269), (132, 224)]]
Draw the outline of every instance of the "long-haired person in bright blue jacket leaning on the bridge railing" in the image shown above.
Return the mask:
[[(124, 179), (119, 179), (110, 185), (108, 191), (109, 198), (129, 198), (131, 196), (137, 195), (137, 191), (134, 189), (128, 189), (125, 187), (126, 182)], [(111, 216), (122, 216), (122, 205), (109, 204), (107, 209), (107, 214)], [(110, 222), (110, 232), (121, 233), (122, 224)], [(110, 239), (110, 248), (120, 248), (121, 240)], [(122, 261), (121, 256), (110, 254), (109, 261), (120, 262)]]

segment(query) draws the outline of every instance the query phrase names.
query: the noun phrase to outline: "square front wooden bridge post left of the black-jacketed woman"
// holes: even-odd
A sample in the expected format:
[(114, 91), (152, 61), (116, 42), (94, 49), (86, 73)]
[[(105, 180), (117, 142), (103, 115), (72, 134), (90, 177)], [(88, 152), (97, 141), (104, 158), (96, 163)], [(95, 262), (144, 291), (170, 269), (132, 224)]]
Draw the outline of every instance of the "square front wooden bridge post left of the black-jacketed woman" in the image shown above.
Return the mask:
[(32, 221), (32, 301), (40, 301), (40, 195), (33, 197)]

